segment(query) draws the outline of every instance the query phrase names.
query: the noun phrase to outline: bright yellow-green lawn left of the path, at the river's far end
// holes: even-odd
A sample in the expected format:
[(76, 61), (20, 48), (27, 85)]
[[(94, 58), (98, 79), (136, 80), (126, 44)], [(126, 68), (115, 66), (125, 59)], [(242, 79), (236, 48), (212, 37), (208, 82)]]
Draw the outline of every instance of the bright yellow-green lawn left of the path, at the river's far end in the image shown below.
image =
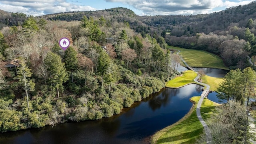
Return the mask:
[(166, 87), (168, 88), (179, 88), (187, 84), (194, 83), (194, 78), (196, 78), (196, 72), (192, 70), (186, 70), (182, 76), (176, 77), (168, 82), (166, 82)]

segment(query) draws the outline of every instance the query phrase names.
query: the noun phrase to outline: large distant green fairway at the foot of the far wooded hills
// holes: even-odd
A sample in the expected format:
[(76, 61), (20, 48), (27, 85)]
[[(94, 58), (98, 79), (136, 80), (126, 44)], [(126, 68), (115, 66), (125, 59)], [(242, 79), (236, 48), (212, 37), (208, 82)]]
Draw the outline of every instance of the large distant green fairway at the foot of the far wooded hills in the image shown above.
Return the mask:
[(212, 54), (203, 50), (192, 50), (186, 48), (179, 48), (174, 46), (168, 46), (167, 48), (180, 50), (180, 55), (186, 61), (186, 63), (194, 68), (219, 68), (228, 70), (224, 65), (223, 60)]

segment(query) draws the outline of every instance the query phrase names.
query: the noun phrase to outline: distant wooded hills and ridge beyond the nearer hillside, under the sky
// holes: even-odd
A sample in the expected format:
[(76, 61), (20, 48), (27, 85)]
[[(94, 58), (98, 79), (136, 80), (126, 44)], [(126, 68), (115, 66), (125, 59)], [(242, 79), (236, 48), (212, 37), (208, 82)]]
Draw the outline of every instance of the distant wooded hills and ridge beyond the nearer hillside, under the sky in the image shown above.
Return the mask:
[[(254, 58), (256, 34), (256, 2), (227, 8), (212, 14), (190, 16), (136, 16), (127, 8), (95, 12), (47, 15), (49, 20), (70, 20), (77, 15), (104, 15), (111, 20), (127, 22), (143, 38), (150, 35), (161, 45), (206, 50), (220, 56), (230, 69), (250, 66), (247, 56)], [(71, 19), (72, 20), (72, 19)]]

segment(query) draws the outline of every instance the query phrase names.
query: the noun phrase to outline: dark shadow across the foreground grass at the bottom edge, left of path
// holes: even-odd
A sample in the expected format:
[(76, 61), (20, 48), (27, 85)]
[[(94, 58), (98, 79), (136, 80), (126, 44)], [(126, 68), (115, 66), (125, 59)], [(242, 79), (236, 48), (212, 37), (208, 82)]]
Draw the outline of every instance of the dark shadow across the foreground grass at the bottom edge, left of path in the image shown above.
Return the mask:
[(203, 128), (195, 129), (192, 132), (182, 133), (176, 136), (170, 136), (168, 138), (161, 138), (156, 143), (161, 144), (164, 142), (173, 142), (175, 143), (178, 140), (188, 139), (186, 142), (182, 142), (181, 144), (193, 144), (196, 141), (196, 138), (199, 138), (200, 134), (203, 132)]

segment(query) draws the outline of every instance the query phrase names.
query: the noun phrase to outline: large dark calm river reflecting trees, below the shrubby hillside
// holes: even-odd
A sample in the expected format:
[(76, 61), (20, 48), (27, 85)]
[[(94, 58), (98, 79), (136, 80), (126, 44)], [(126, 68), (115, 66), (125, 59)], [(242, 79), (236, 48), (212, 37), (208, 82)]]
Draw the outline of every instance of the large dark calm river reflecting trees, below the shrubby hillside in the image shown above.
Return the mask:
[(200, 96), (196, 84), (164, 88), (111, 118), (46, 126), (1, 134), (1, 144), (148, 144), (156, 131), (182, 118)]

